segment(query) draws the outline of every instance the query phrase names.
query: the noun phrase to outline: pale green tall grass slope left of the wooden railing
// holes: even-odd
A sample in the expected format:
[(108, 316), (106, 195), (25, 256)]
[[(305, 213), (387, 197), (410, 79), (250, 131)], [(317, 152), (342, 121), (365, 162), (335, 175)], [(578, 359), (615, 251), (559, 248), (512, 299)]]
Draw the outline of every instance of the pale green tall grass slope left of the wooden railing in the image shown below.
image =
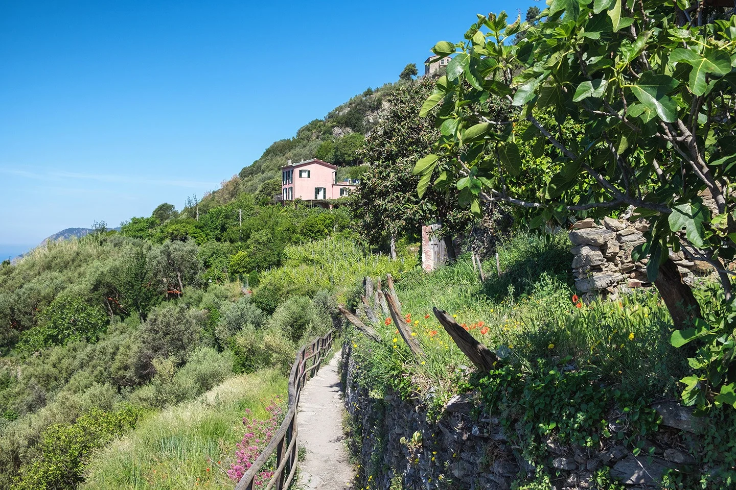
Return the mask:
[(266, 418), (266, 406), (286, 394), (275, 370), (230, 378), (197, 400), (167, 408), (97, 453), (80, 489), (232, 489), (227, 477), (246, 409)]

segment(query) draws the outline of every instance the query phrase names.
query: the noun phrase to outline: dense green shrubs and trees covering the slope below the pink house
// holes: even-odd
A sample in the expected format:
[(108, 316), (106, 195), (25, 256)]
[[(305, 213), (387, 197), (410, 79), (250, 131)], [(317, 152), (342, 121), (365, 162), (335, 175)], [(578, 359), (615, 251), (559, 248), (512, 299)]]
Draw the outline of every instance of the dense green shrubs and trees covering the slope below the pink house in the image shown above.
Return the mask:
[(350, 290), (378, 265), (355, 245), (364, 267), (325, 256), (328, 243), (348, 243), (344, 208), (261, 205), (243, 194), (201, 206), (199, 220), (162, 210), (168, 217), (49, 243), (0, 270), (1, 487), (54, 480), (63, 460), (68, 480), (48, 488), (73, 488), (90, 451), (130, 428), (50, 453), (48, 434), (77, 437), (85, 414), (160, 410), (233, 373), (286, 372), (305, 336), (333, 328), (335, 281)]

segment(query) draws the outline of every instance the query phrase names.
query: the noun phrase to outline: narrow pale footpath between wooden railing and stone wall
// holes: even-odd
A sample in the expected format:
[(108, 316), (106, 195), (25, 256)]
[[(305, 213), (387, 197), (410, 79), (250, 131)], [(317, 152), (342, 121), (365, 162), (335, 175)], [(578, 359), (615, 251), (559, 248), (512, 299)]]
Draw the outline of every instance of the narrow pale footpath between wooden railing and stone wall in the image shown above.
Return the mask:
[(307, 381), (299, 400), (299, 446), (307, 456), (299, 464), (297, 486), (306, 490), (353, 488), (353, 468), (347, 460), (342, 433), (342, 400), (336, 355)]

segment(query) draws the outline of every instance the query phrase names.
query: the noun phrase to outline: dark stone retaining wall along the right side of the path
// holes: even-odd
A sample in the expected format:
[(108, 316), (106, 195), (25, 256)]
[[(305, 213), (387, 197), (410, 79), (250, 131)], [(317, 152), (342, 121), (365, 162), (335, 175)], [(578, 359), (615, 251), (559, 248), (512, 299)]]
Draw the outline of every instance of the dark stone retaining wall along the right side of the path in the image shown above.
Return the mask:
[[(659, 487), (668, 469), (698, 468), (700, 419), (690, 408), (662, 401), (654, 408), (662, 417), (657, 433), (647, 435), (646, 453), (634, 454), (618, 439), (599, 447), (567, 447), (547, 442), (549, 461), (529, 463), (515, 449), (496, 417), (475, 419), (474, 394), (453, 397), (442, 417), (428, 421), (428, 411), (418, 402), (397, 394), (376, 397), (356, 379), (359, 368), (350, 357), (351, 345), (342, 350), (344, 405), (350, 415), (350, 449), (358, 461), (356, 488), (369, 489), (489, 489), (509, 490), (516, 480), (531, 480), (535, 465), (559, 475), (553, 490), (593, 488), (598, 469), (630, 489)], [(615, 417), (609, 417), (615, 420)], [(609, 430), (622, 430), (609, 423)], [(651, 450), (651, 453), (650, 453)], [(371, 480), (368, 480), (368, 478)]]

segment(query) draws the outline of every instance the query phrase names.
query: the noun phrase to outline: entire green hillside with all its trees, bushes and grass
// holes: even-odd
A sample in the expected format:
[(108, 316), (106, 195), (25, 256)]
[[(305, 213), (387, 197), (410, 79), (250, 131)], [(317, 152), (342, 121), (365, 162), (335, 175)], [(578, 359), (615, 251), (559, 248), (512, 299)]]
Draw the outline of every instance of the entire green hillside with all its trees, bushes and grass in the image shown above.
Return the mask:
[[(733, 488), (732, 14), (478, 15), (434, 46), (446, 69), (409, 65), (201, 201), (4, 262), (0, 488), (233, 486), (280, 422), (294, 353), (331, 329), (372, 405), (345, 420), (353, 449), (372, 444), (356, 488), (459, 489), (451, 465), (498, 466), (504, 490)], [(279, 167), (313, 157), (358, 189), (276, 203)], [(425, 225), (447, 251), (429, 272)], [(400, 311), (365, 308), (367, 276)], [(392, 406), (433, 430), (382, 433)], [(434, 452), (463, 430), (480, 456)]]

